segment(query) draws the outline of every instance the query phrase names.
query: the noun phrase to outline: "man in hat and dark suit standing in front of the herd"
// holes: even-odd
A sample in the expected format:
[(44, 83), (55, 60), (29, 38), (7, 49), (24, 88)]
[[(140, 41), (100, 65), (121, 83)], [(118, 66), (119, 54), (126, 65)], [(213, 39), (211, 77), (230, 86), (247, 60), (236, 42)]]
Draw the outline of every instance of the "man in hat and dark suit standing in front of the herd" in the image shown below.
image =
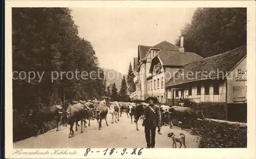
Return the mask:
[(148, 97), (146, 102), (150, 105), (145, 107), (142, 126), (145, 126), (147, 148), (155, 148), (156, 128), (161, 126), (161, 112), (160, 108), (155, 105), (157, 98)]

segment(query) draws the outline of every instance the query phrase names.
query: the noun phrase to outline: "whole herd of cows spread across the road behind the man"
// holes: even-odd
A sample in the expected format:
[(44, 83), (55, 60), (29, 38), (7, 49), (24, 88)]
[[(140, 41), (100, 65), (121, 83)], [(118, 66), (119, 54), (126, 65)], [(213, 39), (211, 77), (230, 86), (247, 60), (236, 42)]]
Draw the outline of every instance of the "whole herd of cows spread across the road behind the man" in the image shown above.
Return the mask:
[[(89, 100), (89, 101), (66, 101), (65, 105), (55, 105), (51, 107), (47, 107), (44, 109), (37, 109), (29, 113), (30, 119), (37, 126), (38, 131), (37, 134), (44, 133), (44, 122), (53, 121), (56, 119), (57, 121), (57, 129), (59, 131), (59, 126), (67, 126), (70, 125), (70, 133), (69, 138), (75, 135), (73, 126), (75, 125), (75, 130), (77, 131), (77, 127), (81, 126), (81, 133), (84, 131), (84, 128), (90, 126), (91, 120), (97, 120), (98, 129), (102, 128), (102, 120), (105, 121), (106, 126), (109, 126), (108, 121), (106, 119), (107, 115), (110, 114), (112, 116), (111, 123), (117, 123), (120, 120), (120, 117), (124, 113), (128, 118), (131, 118), (131, 123), (135, 123), (136, 130), (138, 128), (138, 121), (141, 119), (144, 113), (145, 107), (148, 103), (144, 101), (134, 100), (133, 102), (109, 102), (103, 99), (102, 101), (98, 100)], [(161, 118), (162, 125), (166, 125), (170, 123), (170, 128), (173, 126), (173, 122), (181, 121), (182, 123), (188, 123), (193, 125), (195, 119), (205, 119), (202, 111), (198, 110), (198, 107), (189, 106), (189, 107), (181, 107), (181, 106), (159, 106), (161, 110)], [(81, 125), (78, 122), (81, 122)], [(61, 123), (61, 124), (60, 124)]]

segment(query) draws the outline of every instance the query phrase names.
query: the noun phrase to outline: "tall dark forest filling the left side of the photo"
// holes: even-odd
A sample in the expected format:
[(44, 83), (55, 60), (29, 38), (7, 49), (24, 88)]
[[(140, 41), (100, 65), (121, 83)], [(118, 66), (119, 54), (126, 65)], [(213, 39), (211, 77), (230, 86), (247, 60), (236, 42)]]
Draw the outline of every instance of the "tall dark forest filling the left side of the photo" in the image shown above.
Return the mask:
[(12, 81), (14, 141), (34, 133), (25, 124), (26, 111), (62, 104), (64, 94), (67, 100), (88, 100), (106, 93), (103, 72), (95, 74), (95, 80), (63, 76), (51, 81), (55, 71), (99, 69), (92, 44), (78, 36), (68, 8), (12, 8), (12, 63), (13, 71), (44, 72), (40, 82), (39, 78)]

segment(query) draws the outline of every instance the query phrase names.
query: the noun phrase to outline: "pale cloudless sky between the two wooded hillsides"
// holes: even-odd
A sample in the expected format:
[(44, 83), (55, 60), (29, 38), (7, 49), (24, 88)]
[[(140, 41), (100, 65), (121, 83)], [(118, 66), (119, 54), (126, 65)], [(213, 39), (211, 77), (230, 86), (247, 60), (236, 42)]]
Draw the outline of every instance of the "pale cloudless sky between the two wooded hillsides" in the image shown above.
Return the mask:
[(92, 43), (100, 67), (127, 74), (138, 45), (175, 44), (196, 8), (71, 8), (79, 36)]

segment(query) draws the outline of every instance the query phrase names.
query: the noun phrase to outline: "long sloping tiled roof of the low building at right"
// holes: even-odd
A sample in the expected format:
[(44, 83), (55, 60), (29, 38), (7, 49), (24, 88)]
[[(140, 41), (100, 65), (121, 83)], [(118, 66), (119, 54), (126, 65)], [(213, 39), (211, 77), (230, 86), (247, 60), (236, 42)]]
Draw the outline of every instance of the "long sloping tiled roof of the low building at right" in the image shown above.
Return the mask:
[(223, 73), (226, 76), (246, 55), (247, 47), (242, 46), (222, 54), (190, 62), (184, 65), (165, 86), (174, 86), (217, 77), (222, 78)]

